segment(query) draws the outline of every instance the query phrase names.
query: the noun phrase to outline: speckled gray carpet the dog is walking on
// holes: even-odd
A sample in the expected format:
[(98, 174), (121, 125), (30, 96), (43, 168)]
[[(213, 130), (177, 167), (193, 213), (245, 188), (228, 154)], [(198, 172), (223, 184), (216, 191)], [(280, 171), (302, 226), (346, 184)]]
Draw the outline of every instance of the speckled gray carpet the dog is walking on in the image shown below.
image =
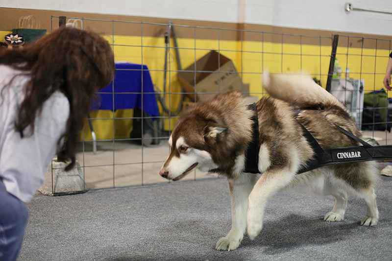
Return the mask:
[(361, 227), (365, 202), (350, 199), (345, 220), (326, 223), (330, 197), (281, 192), (259, 237), (234, 251), (215, 244), (230, 229), (227, 181), (36, 196), (19, 260), (392, 260), (392, 178), (377, 190), (380, 220)]

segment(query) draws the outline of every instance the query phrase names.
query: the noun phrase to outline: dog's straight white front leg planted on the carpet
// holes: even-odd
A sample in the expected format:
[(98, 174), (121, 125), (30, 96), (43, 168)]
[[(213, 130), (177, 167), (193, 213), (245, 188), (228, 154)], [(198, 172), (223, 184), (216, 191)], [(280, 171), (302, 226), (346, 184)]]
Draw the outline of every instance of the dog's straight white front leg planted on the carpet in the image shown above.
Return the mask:
[(226, 237), (217, 242), (217, 250), (236, 249), (245, 234), (246, 213), (248, 208), (248, 196), (252, 190), (257, 175), (241, 173), (237, 179), (229, 179), (231, 195), (231, 230)]

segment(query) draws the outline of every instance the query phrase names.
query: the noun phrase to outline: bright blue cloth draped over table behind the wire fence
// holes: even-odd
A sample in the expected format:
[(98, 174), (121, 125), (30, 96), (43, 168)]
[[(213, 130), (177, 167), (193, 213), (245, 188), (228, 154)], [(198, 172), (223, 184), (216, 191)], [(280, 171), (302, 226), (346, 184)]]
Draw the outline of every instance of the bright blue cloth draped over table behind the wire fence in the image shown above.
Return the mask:
[(142, 109), (150, 116), (159, 116), (148, 67), (140, 64), (116, 63), (114, 82), (99, 90), (98, 100), (93, 102), (92, 110), (116, 111), (133, 108)]

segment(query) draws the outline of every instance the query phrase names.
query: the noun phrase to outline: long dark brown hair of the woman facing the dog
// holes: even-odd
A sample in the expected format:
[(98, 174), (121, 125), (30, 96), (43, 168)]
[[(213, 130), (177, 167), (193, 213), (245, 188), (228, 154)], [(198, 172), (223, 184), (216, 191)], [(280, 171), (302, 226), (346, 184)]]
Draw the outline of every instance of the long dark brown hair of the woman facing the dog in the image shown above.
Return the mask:
[(109, 43), (94, 32), (64, 26), (22, 49), (0, 50), (0, 64), (29, 76), (15, 121), (22, 138), (27, 127), (33, 134), (34, 120), (50, 95), (60, 91), (67, 96), (70, 116), (58, 145), (62, 138), (66, 142), (58, 147), (57, 157), (71, 160), (66, 167), (70, 170), (75, 165), (79, 132), (90, 103), (114, 77), (114, 55)]

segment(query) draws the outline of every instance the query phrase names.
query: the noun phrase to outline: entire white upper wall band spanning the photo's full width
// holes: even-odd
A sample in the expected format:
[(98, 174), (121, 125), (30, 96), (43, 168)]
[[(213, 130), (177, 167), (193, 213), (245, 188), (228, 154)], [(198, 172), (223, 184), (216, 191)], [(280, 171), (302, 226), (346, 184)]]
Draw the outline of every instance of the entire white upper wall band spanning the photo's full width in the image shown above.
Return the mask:
[(392, 35), (392, 15), (347, 14), (346, 1), (392, 12), (392, 0), (0, 0), (0, 6)]

